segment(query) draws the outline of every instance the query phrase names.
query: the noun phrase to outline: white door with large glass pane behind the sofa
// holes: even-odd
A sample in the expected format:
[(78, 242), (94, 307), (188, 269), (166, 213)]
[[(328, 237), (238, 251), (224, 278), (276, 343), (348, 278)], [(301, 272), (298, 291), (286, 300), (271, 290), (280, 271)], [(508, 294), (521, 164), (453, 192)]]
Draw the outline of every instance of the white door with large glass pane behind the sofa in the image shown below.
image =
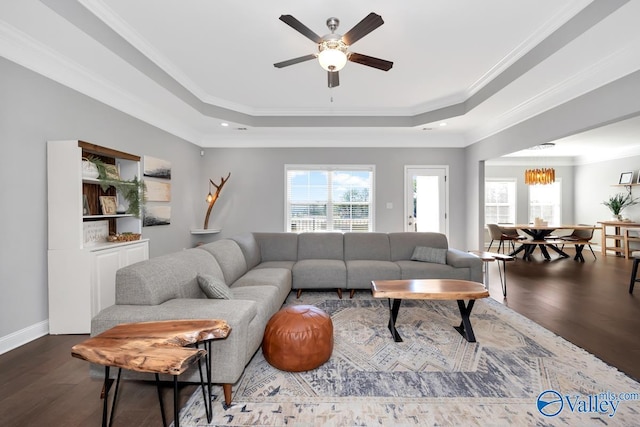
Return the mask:
[(448, 166), (405, 166), (405, 231), (447, 234)]

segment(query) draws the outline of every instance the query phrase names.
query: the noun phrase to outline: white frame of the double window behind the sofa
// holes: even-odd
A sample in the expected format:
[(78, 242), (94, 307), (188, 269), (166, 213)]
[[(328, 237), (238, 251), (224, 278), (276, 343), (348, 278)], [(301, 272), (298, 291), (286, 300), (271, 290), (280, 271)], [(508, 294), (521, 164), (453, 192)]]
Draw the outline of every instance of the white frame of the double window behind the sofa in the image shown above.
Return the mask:
[[(291, 200), (289, 198), (289, 172), (290, 171), (321, 171), (327, 172), (329, 176), (329, 182), (327, 183), (327, 209), (326, 209), (326, 230), (292, 230), (292, 216), (291, 216)], [(301, 232), (343, 232), (340, 229), (333, 228), (333, 212), (334, 201), (332, 200), (332, 194), (329, 190), (333, 189), (333, 182), (331, 181), (331, 174), (334, 172), (369, 172), (371, 174), (371, 181), (369, 186), (369, 217), (368, 217), (368, 229), (363, 232), (375, 231), (375, 183), (376, 183), (376, 167), (373, 164), (285, 164), (284, 166), (284, 230), (285, 232), (301, 233)], [(351, 228), (351, 227), (350, 227)], [(353, 232), (359, 232), (353, 230)]]

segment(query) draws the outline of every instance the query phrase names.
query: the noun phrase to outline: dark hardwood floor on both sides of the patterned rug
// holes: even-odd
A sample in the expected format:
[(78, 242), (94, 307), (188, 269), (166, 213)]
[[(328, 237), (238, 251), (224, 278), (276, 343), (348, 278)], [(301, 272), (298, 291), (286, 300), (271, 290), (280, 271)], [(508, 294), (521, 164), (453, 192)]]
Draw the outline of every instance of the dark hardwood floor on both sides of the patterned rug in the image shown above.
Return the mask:
[[(640, 380), (640, 283), (630, 295), (632, 261), (596, 255), (594, 261), (585, 251), (584, 263), (542, 261), (538, 253), (534, 261), (510, 262), (505, 300), (497, 265), (491, 263), (491, 296)], [(86, 362), (70, 355), (71, 347), (86, 337), (46, 336), (0, 355), (1, 426), (100, 424), (102, 382), (89, 377)], [(182, 403), (194, 390), (194, 385), (181, 389)], [(168, 385), (164, 396), (172, 419)], [(161, 425), (153, 383), (123, 382), (116, 412), (116, 426)]]

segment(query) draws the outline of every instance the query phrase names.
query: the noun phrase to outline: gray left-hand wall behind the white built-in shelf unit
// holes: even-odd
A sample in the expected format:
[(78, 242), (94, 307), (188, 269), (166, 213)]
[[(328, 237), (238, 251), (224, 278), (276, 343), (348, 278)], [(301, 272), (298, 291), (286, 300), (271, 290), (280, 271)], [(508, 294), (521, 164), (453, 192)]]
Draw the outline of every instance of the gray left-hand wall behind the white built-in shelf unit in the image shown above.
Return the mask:
[[(171, 160), (172, 224), (143, 229), (151, 256), (191, 245), (198, 147), (0, 58), (0, 339), (47, 320), (46, 141), (82, 139)], [(194, 168), (193, 165), (198, 167)]]

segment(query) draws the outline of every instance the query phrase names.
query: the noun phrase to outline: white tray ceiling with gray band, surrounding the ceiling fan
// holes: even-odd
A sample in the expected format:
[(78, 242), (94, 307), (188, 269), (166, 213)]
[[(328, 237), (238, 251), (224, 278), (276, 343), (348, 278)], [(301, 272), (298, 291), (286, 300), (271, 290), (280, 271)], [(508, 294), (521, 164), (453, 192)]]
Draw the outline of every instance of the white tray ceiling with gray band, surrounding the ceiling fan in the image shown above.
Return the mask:
[[(350, 51), (390, 71), (348, 63), (329, 89), (316, 61), (273, 66), (317, 50), (280, 15), (324, 35), (370, 12), (384, 25)], [(640, 69), (638, 16), (638, 0), (3, 0), (0, 54), (203, 147), (465, 147)], [(629, 149), (639, 128), (558, 148)]]

